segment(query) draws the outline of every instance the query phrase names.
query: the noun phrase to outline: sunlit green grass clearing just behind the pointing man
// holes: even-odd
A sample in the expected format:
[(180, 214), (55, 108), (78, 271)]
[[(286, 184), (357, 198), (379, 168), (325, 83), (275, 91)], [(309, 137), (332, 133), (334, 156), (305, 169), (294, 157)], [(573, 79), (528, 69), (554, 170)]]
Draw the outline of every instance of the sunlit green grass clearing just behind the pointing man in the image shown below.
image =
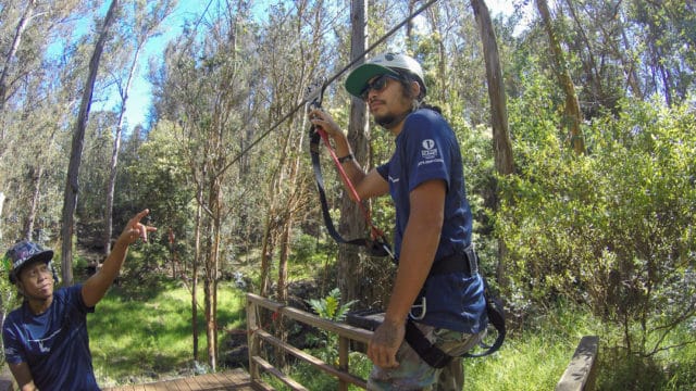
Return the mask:
[[(221, 285), (217, 323), (244, 327), (243, 293)], [(202, 289), (198, 292), (199, 362), (207, 362)], [(140, 286), (113, 287), (88, 315), (90, 349), (102, 387), (145, 382), (192, 370), (190, 291), (182, 282), (161, 279)], [(224, 332), (219, 332), (222, 339)]]

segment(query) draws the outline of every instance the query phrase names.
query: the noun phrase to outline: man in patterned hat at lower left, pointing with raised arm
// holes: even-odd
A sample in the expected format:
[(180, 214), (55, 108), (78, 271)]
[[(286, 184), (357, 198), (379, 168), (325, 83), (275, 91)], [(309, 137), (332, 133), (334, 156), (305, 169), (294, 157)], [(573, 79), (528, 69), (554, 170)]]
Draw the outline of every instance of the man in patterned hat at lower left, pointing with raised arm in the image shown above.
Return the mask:
[(3, 264), (24, 298), (2, 325), (5, 361), (22, 391), (99, 390), (91, 365), (87, 314), (104, 297), (126, 257), (128, 245), (147, 240), (154, 227), (138, 213), (119, 236), (101, 269), (84, 283), (53, 291), (58, 280), (52, 250), (22, 241)]

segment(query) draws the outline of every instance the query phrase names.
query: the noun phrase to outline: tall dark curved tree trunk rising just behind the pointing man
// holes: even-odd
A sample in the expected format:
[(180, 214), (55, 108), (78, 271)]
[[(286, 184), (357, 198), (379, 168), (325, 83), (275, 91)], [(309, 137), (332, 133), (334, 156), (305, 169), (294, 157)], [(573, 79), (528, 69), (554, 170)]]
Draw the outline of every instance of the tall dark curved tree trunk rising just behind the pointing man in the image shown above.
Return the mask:
[(77, 123), (75, 125), (75, 134), (73, 135), (70, 165), (67, 167), (67, 180), (65, 181), (63, 199), (63, 226), (61, 227), (61, 239), (63, 241), (61, 249), (61, 265), (64, 286), (73, 285), (73, 234), (75, 226), (75, 209), (77, 206), (77, 192), (79, 190), (77, 177), (83, 157), (85, 128), (87, 127), (87, 119), (89, 117), (91, 93), (95, 88), (97, 72), (99, 71), (99, 60), (101, 59), (104, 42), (109, 36), (109, 28), (113, 23), (117, 7), (119, 0), (112, 0), (109, 11), (107, 12), (107, 16), (104, 16), (103, 26), (99, 34), (99, 38), (97, 39), (95, 51), (89, 60), (89, 75), (87, 77), (87, 83), (85, 83), (79, 113), (77, 114)]

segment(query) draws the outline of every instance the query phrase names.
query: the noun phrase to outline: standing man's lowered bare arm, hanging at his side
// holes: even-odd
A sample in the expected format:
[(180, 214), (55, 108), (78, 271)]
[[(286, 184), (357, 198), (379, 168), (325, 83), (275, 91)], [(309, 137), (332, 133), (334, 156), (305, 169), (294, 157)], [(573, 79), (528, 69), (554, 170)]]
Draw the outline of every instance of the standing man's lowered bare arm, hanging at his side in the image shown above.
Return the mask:
[(409, 194), (409, 223), (403, 232), (396, 281), (384, 323), (368, 346), (368, 356), (380, 367), (398, 366), (396, 352), (406, 332), (406, 317), (435, 261), (445, 218), (445, 181), (428, 180)]

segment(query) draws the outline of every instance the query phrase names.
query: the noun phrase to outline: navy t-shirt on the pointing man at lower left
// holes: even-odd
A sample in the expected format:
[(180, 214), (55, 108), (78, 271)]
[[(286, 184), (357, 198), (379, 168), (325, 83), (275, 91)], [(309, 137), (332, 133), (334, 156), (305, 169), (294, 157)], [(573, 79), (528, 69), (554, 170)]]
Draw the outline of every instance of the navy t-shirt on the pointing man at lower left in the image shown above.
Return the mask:
[(87, 336), (87, 313), (92, 312), (83, 301), (82, 285), (58, 289), (40, 315), (25, 302), (2, 326), (7, 362), (27, 363), (41, 391), (99, 390)]

